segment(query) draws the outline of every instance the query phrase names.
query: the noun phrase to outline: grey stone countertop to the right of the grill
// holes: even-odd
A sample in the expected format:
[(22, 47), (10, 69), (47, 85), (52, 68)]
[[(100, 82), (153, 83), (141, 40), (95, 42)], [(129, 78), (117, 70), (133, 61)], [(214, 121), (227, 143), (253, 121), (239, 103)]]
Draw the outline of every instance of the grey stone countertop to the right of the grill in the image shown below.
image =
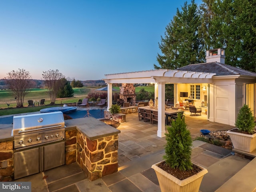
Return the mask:
[(96, 140), (120, 133), (120, 130), (93, 117), (65, 120), (65, 126), (65, 130), (76, 128), (84, 133), (89, 140)]

